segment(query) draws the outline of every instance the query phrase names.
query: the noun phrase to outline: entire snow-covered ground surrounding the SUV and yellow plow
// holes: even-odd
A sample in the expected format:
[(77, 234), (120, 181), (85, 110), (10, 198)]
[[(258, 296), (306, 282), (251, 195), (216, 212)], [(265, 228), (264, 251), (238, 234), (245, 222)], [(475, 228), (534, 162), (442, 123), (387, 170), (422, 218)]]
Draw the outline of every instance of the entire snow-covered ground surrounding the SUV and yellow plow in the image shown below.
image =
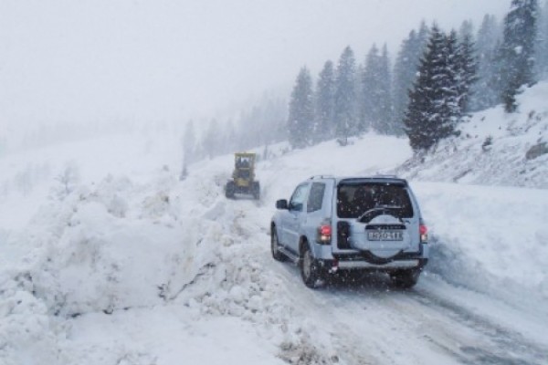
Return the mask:
[[(495, 142), (477, 154), (516, 142), (484, 134)], [(522, 137), (518, 154), (532, 143)], [(467, 183), (448, 183), (444, 162), (415, 167), (432, 245), (416, 288), (372, 276), (312, 291), (297, 267), (270, 257), (275, 201), (314, 174), (394, 171), (411, 151), (376, 135), (344, 148), (284, 147), (258, 164), (258, 202), (225, 198), (232, 156), (197, 162), (180, 182), (181, 149), (168, 133), (3, 157), (0, 364), (547, 362), (545, 170), (523, 188), (481, 184), (479, 165)], [(447, 176), (428, 179), (434, 172)]]

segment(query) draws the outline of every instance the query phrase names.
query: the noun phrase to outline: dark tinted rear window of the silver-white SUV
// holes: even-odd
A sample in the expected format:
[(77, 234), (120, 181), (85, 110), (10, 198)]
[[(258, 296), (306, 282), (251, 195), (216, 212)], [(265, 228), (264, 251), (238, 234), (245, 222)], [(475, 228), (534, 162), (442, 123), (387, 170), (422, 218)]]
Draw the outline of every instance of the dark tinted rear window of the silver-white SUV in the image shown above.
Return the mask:
[(337, 188), (337, 215), (358, 218), (374, 208), (390, 208), (401, 218), (413, 216), (413, 205), (405, 185), (391, 183), (348, 183)]

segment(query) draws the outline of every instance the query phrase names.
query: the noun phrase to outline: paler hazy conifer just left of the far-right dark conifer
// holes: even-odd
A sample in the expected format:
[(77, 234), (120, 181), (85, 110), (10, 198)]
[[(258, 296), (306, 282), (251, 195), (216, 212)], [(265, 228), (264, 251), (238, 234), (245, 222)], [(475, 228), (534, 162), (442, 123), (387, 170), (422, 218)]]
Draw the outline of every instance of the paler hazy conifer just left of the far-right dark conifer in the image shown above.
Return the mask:
[(497, 61), (501, 30), (495, 16), (483, 16), (476, 39), (478, 80), (472, 85), (469, 109), (485, 110), (501, 100), (501, 74)]

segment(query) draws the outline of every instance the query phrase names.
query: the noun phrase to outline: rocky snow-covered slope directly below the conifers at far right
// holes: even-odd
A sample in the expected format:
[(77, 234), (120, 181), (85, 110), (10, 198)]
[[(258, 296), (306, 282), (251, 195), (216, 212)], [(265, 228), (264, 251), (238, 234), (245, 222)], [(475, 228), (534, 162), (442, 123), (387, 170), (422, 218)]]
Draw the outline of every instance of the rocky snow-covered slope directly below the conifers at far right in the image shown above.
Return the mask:
[(518, 96), (516, 113), (502, 106), (459, 126), (459, 137), (417, 155), (395, 173), (411, 180), (548, 188), (548, 81)]

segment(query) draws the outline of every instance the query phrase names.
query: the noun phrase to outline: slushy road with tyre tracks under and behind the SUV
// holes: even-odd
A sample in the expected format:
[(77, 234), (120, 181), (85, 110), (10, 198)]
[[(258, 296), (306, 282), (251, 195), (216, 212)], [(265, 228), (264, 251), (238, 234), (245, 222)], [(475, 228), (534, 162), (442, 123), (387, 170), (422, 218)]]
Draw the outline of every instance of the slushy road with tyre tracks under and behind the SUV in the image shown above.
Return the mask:
[[(250, 203), (234, 204), (241, 214), (252, 212), (242, 215), (244, 219), (257, 216)], [(256, 224), (257, 231), (265, 230), (264, 223)], [(394, 291), (380, 275), (364, 285), (339, 280), (311, 291), (300, 282), (296, 266), (269, 257), (264, 241), (257, 254), (264, 274), (281, 276), (279, 297), (289, 299), (292, 322), (303, 323), (304, 337), (317, 346), (315, 351), (329, 349), (323, 352), (326, 359), (351, 364), (539, 365), (548, 359), (548, 310), (543, 306), (506, 303), (428, 271), (410, 291)]]

